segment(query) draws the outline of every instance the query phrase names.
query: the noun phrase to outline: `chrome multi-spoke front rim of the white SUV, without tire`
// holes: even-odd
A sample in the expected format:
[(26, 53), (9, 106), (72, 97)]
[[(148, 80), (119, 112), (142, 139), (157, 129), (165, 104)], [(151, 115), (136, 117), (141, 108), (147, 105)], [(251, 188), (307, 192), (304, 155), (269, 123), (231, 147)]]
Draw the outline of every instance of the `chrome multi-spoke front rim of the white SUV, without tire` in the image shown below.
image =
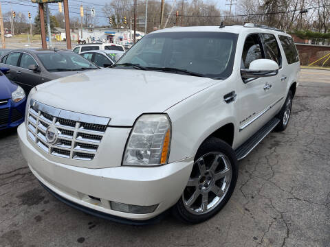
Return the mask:
[(232, 165), (225, 154), (210, 152), (195, 161), (182, 193), (184, 207), (195, 215), (212, 211), (225, 197), (232, 180)]

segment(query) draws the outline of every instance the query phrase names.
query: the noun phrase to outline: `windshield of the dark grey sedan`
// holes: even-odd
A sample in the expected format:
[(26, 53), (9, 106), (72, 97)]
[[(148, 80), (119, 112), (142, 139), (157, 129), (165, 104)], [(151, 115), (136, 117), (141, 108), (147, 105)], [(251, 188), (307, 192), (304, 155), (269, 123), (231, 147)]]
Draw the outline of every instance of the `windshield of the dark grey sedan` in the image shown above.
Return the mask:
[(98, 69), (94, 64), (74, 52), (40, 53), (37, 56), (47, 71), (50, 72)]

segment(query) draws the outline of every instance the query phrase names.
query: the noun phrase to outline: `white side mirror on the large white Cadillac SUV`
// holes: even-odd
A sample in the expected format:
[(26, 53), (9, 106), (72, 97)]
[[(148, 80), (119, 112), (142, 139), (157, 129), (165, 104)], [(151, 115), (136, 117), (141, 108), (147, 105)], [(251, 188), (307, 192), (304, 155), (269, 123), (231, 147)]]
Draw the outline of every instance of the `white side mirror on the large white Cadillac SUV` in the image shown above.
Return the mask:
[(273, 60), (256, 59), (250, 63), (249, 69), (241, 69), (241, 75), (244, 79), (263, 78), (277, 75), (278, 69), (277, 62)]

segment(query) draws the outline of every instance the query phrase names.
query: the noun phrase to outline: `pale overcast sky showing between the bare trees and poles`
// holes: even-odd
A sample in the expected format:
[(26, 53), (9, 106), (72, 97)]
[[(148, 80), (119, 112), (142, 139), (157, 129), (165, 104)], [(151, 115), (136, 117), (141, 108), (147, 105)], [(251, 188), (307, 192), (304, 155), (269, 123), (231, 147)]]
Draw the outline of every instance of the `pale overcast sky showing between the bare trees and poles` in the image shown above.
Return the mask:
[[(141, 1), (141, 0), (137, 0)], [(177, 0), (181, 1), (181, 0)], [(190, 1), (190, 0), (188, 0)], [(92, 3), (91, 3), (92, 2)], [(173, 0), (165, 0), (166, 3), (172, 4)], [(207, 2), (207, 0), (206, 0)], [(229, 6), (225, 5), (226, 0), (214, 0), (213, 2), (217, 2), (218, 8), (221, 10), (229, 10)], [(69, 0), (69, 11), (70, 15), (78, 16), (79, 15), (79, 6), (83, 4), (84, 7), (87, 6), (89, 8), (94, 8), (96, 10), (96, 16), (98, 16), (98, 25), (107, 25), (108, 20), (104, 17), (104, 13), (102, 12), (102, 6), (105, 3), (109, 3), (109, 0)], [(159, 0), (160, 4), (160, 0)], [(34, 20), (34, 16), (38, 10), (38, 4), (32, 3), (30, 0), (5, 0), (1, 1), (2, 12), (8, 12), (11, 9), (15, 12), (23, 12), (25, 16), (28, 17), (28, 12), (32, 14), (32, 21)], [(52, 14), (55, 14), (58, 11), (57, 3), (50, 3), (50, 10)]]

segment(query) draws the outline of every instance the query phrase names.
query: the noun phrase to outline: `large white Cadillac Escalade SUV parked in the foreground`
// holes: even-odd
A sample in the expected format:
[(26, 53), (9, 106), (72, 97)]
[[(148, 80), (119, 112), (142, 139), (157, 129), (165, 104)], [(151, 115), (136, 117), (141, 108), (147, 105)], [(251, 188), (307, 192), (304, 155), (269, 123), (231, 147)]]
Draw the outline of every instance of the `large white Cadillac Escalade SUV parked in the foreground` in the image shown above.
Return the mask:
[(110, 69), (36, 86), (21, 150), (45, 189), (85, 212), (201, 222), (230, 199), (237, 161), (287, 127), (299, 73), (281, 30), (159, 30)]

